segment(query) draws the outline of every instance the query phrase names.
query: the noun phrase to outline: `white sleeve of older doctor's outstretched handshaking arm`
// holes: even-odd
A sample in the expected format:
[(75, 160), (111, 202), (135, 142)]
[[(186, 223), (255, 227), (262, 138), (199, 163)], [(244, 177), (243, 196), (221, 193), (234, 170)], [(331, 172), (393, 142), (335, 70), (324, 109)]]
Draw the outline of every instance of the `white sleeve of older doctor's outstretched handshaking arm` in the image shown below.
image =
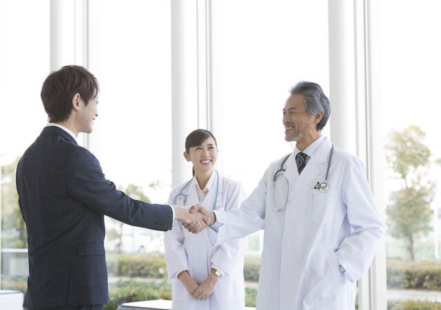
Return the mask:
[(267, 196), (267, 169), (258, 187), (243, 201), (239, 209), (230, 211), (214, 211), (218, 229), (216, 245), (221, 245), (225, 240), (244, 238), (265, 226), (265, 206)]

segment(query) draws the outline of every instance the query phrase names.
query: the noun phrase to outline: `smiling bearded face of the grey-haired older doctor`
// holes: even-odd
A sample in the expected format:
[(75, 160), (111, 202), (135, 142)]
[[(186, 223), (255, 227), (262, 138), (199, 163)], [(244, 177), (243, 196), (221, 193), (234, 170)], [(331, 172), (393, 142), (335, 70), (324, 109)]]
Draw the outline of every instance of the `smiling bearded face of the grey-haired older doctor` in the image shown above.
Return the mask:
[(296, 141), (298, 145), (307, 146), (320, 135), (316, 125), (322, 118), (322, 112), (318, 115), (308, 115), (303, 107), (304, 100), (303, 94), (289, 96), (283, 108), (283, 125), (285, 125), (286, 141)]

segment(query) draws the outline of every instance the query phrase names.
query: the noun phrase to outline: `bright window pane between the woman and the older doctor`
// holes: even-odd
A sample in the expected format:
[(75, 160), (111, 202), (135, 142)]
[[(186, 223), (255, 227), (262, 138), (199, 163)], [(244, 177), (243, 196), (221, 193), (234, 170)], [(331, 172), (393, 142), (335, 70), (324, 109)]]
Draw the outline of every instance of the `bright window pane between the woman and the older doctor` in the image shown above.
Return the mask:
[[(329, 94), (327, 1), (274, 4), (212, 3), (218, 169), (240, 181), (247, 194), (269, 163), (292, 152), (282, 123), (290, 88), (314, 81)], [(328, 130), (329, 125), (325, 134)], [(249, 236), (249, 251), (258, 255), (262, 242), (262, 232)]]

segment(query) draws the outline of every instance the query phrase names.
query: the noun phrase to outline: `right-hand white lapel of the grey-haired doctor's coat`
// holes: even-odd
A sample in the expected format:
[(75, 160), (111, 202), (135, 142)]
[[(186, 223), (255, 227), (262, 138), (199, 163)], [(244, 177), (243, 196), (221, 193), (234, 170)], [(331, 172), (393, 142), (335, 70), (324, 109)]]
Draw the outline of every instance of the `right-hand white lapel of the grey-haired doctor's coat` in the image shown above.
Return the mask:
[[(307, 190), (309, 189), (309, 187), (311, 188), (314, 187), (314, 183), (316, 183), (318, 176), (322, 173), (323, 169), (326, 169), (326, 165), (325, 167), (323, 167), (323, 165), (320, 164), (326, 162), (327, 154), (329, 153), (330, 149), (331, 149), (331, 142), (329, 141), (328, 138), (326, 138), (326, 140), (323, 141), (322, 145), (318, 147), (316, 153), (309, 159), (307, 165), (305, 166), (305, 169), (303, 169), (300, 176), (298, 176), (294, 188), (289, 194), (288, 203), (302, 190)], [(294, 165), (296, 165), (295, 161), (294, 161)], [(294, 167), (294, 171), (298, 174), (297, 165), (296, 167)], [(305, 187), (307, 186), (308, 188), (305, 189)]]

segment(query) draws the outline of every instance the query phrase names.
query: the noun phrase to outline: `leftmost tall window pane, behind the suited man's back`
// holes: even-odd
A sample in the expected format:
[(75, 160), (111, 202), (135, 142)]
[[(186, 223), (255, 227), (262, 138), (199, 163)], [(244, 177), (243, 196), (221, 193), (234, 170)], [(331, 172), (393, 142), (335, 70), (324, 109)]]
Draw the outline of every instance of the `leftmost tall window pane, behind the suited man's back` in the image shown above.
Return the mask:
[[(14, 31), (10, 31), (10, 30)], [(41, 84), (49, 71), (49, 1), (0, 1), (1, 289), (25, 289), (27, 235), (15, 169), (45, 126)]]

